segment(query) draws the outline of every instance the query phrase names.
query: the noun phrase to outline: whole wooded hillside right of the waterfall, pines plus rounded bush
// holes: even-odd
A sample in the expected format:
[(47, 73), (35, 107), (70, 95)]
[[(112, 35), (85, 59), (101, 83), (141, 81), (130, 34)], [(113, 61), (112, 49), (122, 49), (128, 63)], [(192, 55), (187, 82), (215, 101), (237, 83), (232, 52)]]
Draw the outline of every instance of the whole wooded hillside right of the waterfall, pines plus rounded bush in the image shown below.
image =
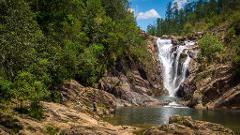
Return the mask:
[[(226, 36), (217, 35), (220, 31)], [(155, 25), (147, 27), (147, 32), (155, 36), (207, 32), (199, 41), (202, 58), (207, 58), (208, 64), (231, 61), (237, 78), (240, 76), (239, 31), (240, 1), (237, 0), (197, 0), (183, 8), (169, 3), (165, 19), (158, 18)]]

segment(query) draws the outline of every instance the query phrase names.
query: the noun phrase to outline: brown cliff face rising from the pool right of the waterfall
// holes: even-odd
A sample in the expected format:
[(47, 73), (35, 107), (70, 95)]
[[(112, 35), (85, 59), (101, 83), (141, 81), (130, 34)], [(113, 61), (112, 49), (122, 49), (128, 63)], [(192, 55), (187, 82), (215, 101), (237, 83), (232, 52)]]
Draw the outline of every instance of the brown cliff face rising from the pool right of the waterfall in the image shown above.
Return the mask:
[[(217, 31), (215, 34), (224, 40), (224, 32)], [(178, 94), (188, 100), (187, 105), (190, 107), (239, 109), (239, 80), (232, 75), (231, 63), (206, 64), (199, 62), (197, 56), (189, 65), (189, 76)]]

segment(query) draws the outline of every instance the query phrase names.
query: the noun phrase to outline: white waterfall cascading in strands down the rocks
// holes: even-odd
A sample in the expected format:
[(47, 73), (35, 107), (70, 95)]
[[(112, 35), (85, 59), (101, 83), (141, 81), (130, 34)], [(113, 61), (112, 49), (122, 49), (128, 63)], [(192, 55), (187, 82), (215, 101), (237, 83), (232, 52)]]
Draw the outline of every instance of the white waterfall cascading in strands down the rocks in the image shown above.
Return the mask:
[(163, 70), (163, 85), (169, 92), (170, 97), (174, 97), (180, 85), (186, 79), (188, 65), (191, 57), (188, 52), (192, 41), (185, 41), (183, 45), (174, 46), (170, 39), (157, 40), (158, 57)]

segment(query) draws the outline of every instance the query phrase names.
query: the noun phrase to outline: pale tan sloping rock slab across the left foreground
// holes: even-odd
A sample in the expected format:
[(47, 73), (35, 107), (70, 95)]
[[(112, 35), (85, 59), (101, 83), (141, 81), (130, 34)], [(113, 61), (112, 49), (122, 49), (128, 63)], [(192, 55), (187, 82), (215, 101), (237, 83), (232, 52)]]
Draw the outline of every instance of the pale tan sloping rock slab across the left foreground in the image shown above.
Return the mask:
[[(132, 131), (136, 130), (133, 127), (113, 126), (107, 122), (96, 120), (93, 115), (70, 109), (65, 105), (49, 102), (42, 102), (42, 105), (45, 110), (43, 120), (35, 120), (21, 115), (0, 115), (0, 123), (4, 122), (1, 124), (3, 127), (0, 127), (0, 134), (131, 135)], [(8, 121), (11, 121), (10, 124), (6, 123)], [(16, 127), (20, 128), (16, 130)]]

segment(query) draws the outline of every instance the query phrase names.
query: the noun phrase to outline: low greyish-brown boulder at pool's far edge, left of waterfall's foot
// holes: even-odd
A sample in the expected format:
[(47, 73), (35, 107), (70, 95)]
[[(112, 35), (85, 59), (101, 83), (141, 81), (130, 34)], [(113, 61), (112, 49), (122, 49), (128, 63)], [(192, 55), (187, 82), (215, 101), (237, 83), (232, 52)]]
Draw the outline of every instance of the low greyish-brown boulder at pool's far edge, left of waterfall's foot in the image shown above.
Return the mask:
[[(145, 86), (140, 86), (143, 84)], [(134, 85), (129, 82), (125, 75), (120, 77), (105, 77), (101, 80), (102, 89), (109, 93), (112, 93), (117, 98), (125, 100), (130, 104), (124, 105), (136, 105), (136, 106), (151, 106), (160, 105), (157, 99), (152, 98), (148, 95), (151, 91), (147, 88), (144, 81), (139, 85)]]

